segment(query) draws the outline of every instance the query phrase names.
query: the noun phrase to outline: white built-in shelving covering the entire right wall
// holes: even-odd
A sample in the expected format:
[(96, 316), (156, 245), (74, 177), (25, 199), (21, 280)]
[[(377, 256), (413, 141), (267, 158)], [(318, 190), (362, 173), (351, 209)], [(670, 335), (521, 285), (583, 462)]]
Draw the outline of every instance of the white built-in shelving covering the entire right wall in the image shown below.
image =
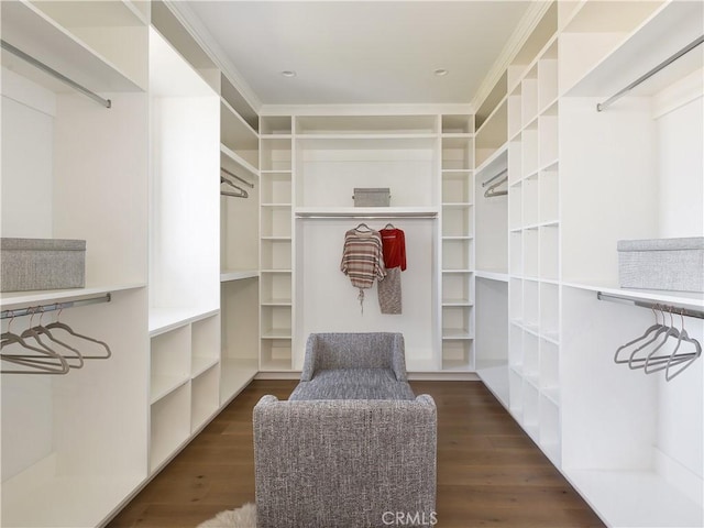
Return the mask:
[[(496, 217), (476, 194), (477, 374), (609, 526), (704, 519), (702, 367), (667, 383), (615, 365), (652, 314), (597, 299), (701, 309), (702, 294), (619, 288), (616, 253), (622, 239), (703, 234), (701, 51), (596, 110), (701, 36), (702, 9), (557, 2), (508, 66), (503, 144), (480, 138), (503, 119), (501, 89), (480, 106), (477, 183), (499, 161), (509, 174)], [(486, 251), (504, 215), (505, 261)], [(505, 333), (483, 330), (502, 318)]]

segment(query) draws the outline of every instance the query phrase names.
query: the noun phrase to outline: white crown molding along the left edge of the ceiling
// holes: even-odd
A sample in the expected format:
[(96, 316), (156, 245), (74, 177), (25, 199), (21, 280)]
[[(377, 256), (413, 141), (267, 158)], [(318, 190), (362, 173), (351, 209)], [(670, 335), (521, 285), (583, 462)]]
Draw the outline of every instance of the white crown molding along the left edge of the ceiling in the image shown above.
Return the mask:
[(178, 0), (163, 0), (163, 2), (184, 28), (188, 30), (198, 45), (210, 56), (212, 62), (216, 63), (228, 80), (232, 82), (232, 86), (237, 88), (246, 102), (258, 113), (262, 108), (262, 101), (246, 80), (244, 80), (244, 77), (234, 64), (228, 58), (222, 47), (220, 47), (218, 42), (212, 37), (198, 15), (194, 13), (188, 3)]

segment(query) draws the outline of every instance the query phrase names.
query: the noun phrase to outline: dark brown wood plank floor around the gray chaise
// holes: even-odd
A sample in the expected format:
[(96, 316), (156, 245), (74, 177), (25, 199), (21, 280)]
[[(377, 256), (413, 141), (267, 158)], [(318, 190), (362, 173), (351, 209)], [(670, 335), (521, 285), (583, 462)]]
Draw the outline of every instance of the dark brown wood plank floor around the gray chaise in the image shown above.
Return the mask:
[[(295, 385), (253, 382), (108, 528), (194, 528), (254, 502), (252, 408)], [(436, 527), (604, 526), (482, 383), (411, 385), (438, 406)]]

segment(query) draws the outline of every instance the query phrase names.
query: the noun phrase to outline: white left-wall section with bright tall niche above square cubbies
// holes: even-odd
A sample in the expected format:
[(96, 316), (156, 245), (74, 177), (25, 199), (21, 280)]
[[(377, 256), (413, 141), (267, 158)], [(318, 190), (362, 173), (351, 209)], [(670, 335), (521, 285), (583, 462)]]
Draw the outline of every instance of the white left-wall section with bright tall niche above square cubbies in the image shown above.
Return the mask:
[(154, 473), (220, 408), (220, 213), (213, 206), (221, 148), (220, 98), (154, 29), (150, 99), (147, 438)]

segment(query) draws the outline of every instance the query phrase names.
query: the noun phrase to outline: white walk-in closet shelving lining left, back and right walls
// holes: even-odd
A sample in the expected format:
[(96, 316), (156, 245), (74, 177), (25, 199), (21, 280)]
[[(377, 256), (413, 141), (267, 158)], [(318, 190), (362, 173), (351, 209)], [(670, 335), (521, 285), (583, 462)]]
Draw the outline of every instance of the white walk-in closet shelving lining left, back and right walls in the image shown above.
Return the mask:
[[(527, 2), (476, 97), (349, 105), (267, 102), (198, 3), (0, 4), (3, 266), (85, 257), (0, 295), (0, 525), (106, 526), (310, 333), (384, 331), (411, 378), (483, 383), (607, 526), (704, 526), (702, 257), (631, 287), (619, 261), (704, 254), (704, 3)], [(385, 229), (395, 312), (341, 270)]]

